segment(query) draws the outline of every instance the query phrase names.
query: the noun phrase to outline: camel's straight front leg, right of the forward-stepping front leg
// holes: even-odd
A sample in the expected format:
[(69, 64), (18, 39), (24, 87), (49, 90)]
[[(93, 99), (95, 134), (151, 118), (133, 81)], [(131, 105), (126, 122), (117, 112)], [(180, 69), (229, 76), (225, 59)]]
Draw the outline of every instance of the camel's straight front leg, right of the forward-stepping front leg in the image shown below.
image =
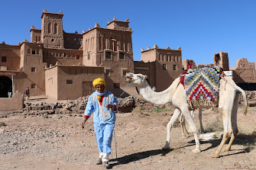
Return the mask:
[(190, 124), (191, 130), (193, 130), (193, 134), (194, 134), (194, 138), (195, 138), (195, 142), (196, 142), (196, 149), (193, 149), (193, 152), (201, 152), (200, 143), (199, 143), (199, 139), (198, 139), (197, 132), (196, 132), (197, 131), (196, 125), (193, 121), (190, 111), (183, 110), (182, 113), (184, 114), (184, 117), (186, 118), (187, 122)]

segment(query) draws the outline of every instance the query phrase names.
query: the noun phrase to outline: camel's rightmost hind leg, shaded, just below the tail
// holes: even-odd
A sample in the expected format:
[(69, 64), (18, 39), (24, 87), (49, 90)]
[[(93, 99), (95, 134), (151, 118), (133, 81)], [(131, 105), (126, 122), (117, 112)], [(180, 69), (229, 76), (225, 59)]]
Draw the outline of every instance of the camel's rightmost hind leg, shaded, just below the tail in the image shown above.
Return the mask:
[(232, 136), (228, 143), (228, 146), (224, 148), (225, 151), (229, 151), (231, 149), (232, 143), (235, 140), (235, 136), (238, 134), (238, 102), (239, 102), (239, 95), (237, 94), (234, 101), (234, 106), (232, 108), (232, 115), (231, 115), (231, 123), (232, 123)]

